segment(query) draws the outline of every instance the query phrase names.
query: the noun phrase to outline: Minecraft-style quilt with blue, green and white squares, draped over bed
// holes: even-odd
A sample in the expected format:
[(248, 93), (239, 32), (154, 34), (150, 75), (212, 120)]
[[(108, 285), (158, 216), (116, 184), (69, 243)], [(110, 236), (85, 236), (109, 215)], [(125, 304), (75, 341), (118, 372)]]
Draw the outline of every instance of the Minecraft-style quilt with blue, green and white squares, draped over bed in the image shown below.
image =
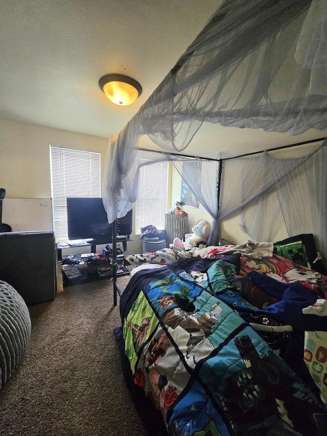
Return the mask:
[(127, 371), (172, 435), (326, 434), (321, 401), (239, 314), (239, 259), (136, 272), (120, 301)]

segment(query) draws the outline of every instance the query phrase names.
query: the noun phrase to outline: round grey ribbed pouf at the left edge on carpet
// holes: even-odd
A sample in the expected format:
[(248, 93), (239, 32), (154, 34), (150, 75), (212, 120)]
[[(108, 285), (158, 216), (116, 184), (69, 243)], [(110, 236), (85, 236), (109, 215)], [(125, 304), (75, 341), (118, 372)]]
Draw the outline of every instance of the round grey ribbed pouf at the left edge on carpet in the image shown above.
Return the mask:
[(0, 388), (24, 356), (31, 335), (28, 307), (18, 292), (0, 280)]

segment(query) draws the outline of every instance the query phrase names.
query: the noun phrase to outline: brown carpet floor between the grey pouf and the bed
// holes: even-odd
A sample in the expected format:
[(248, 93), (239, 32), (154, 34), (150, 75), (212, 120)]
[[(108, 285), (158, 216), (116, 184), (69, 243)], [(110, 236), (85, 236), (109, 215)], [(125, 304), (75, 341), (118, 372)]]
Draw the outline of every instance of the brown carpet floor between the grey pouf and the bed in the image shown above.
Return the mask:
[(146, 435), (121, 371), (112, 282), (67, 286), (29, 310), (27, 353), (0, 391), (0, 435)]

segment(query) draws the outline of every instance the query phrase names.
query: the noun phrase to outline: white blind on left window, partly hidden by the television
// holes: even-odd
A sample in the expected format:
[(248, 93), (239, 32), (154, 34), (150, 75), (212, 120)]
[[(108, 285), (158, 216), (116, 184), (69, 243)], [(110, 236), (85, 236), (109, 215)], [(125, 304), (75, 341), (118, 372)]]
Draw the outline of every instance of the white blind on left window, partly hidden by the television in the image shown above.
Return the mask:
[(101, 155), (51, 145), (50, 167), (55, 236), (68, 239), (66, 198), (101, 197)]

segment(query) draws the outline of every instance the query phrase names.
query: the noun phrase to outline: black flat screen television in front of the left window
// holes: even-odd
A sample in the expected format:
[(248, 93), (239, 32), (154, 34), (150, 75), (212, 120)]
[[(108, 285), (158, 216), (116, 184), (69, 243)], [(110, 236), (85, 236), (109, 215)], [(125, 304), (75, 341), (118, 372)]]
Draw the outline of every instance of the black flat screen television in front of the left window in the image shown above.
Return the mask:
[[(67, 226), (69, 240), (92, 239), (104, 243), (112, 240), (112, 223), (108, 223), (99, 197), (67, 197)], [(132, 233), (132, 210), (118, 218), (116, 233), (126, 237)]]

